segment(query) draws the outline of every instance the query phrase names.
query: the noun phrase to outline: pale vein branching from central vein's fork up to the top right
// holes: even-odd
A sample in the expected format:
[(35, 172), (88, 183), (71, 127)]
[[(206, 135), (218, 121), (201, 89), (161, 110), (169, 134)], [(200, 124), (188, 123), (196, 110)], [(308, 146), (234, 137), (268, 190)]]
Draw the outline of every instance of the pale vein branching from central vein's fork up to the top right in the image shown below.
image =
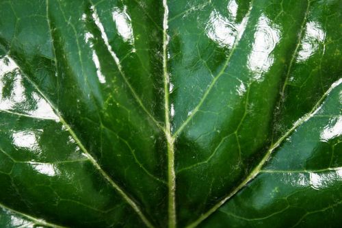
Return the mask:
[[(252, 4), (253, 2), (250, 3), (250, 8), (246, 14), (245, 20), (247, 21), (249, 16), (250, 16), (250, 12), (252, 11)], [(200, 102), (198, 103), (198, 105), (196, 105), (196, 107), (194, 108), (194, 110), (192, 110), (191, 114), (187, 117), (187, 119), (182, 123), (182, 125), (179, 127), (179, 129), (176, 130), (176, 132), (173, 134), (174, 137), (176, 137), (181, 131), (183, 131), (184, 127), (192, 120), (192, 118), (195, 116), (195, 114), (200, 110), (200, 107), (202, 106), (202, 104), (205, 102), (205, 100), (207, 99), (209, 93), (211, 92), (211, 90), (213, 89), (213, 87), (215, 86), (216, 82), (218, 81), (218, 79), (220, 79), (220, 77), (225, 73), (226, 68), (228, 67), (228, 64), (233, 56), (233, 54), (235, 53), (235, 50), (237, 49), (237, 45), (239, 44), (239, 40), (241, 39), (242, 34), (244, 34), (244, 31), (246, 29), (247, 24), (245, 25), (244, 29), (241, 29), (234, 40), (234, 44), (233, 47), (231, 49), (231, 52), (228, 54), (227, 58), (226, 58), (226, 62), (224, 62), (224, 65), (222, 66), (221, 71), (218, 73), (218, 75), (216, 75), (213, 80), (211, 81), (211, 84), (208, 86), (207, 90), (205, 90), (205, 94), (203, 95), (203, 97), (200, 99)]]

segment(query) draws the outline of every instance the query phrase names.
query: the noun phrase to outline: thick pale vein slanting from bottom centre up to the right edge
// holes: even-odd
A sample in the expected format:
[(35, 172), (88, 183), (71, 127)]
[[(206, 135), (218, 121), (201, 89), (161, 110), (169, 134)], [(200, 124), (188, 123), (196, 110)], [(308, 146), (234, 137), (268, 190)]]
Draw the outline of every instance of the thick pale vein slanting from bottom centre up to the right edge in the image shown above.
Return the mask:
[(341, 84), (341, 83), (342, 83), (342, 79), (339, 79), (338, 81), (334, 82), (334, 84), (332, 84), (332, 86), (330, 86), (330, 88), (323, 94), (321, 99), (319, 99), (319, 101), (313, 106), (313, 109), (311, 110), (311, 112), (308, 112), (307, 114), (302, 116), (302, 118), (300, 118), (297, 122), (295, 122), (293, 124), (291, 129), (289, 129), (287, 132), (285, 132), (285, 134), (282, 137), (280, 137), (274, 144), (272, 144), (271, 147), (269, 147), (269, 149), (267, 150), (267, 153), (265, 153), (265, 155), (263, 156), (263, 158), (261, 159), (259, 164), (257, 164), (257, 166), (255, 168), (253, 168), (252, 172), (246, 177), (246, 179), (244, 179), (239, 184), (239, 186), (234, 188), (229, 194), (226, 195), (226, 197), (224, 197), (224, 199), (222, 199), (221, 201), (216, 203), (213, 207), (211, 207), (210, 210), (205, 212), (205, 214), (202, 214), (197, 220), (195, 220), (193, 223), (188, 225), (187, 228), (196, 227), (203, 220), (205, 220), (211, 214), (213, 214), (213, 212), (218, 210), (218, 208), (221, 207), (224, 203), (226, 203), (226, 201), (228, 201), (228, 199), (231, 199), (231, 197), (233, 197), (237, 192), (239, 192), (239, 190), (241, 190), (241, 188), (244, 188), (244, 186), (246, 186), (246, 184), (248, 182), (250, 182), (252, 179), (257, 177), (257, 175), (259, 175), (259, 173), (261, 172), (261, 168), (263, 167), (263, 165), (267, 162), (267, 160), (269, 160), (269, 157), (271, 156), (274, 149), (278, 148), (280, 146), (280, 144), (282, 144), (282, 142), (287, 137), (289, 137), (293, 133), (293, 131), (295, 131), (295, 129), (297, 129), (298, 127), (300, 127), (300, 125), (302, 125), (303, 123), (308, 121), (308, 119), (311, 118), (320, 109), (319, 105), (321, 105), (321, 103), (324, 101), (324, 99), (326, 99), (326, 97), (332, 91), (332, 89), (339, 86), (339, 84)]

